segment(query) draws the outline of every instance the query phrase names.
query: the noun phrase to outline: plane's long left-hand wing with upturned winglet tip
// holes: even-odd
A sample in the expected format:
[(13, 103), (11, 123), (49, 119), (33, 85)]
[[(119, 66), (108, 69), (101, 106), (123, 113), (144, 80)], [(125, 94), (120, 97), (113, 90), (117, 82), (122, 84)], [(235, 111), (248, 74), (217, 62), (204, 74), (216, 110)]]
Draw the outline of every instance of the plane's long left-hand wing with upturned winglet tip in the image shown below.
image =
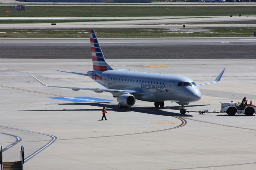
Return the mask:
[(144, 95), (144, 93), (141, 93), (140, 91), (134, 91), (134, 90), (117, 90), (117, 89), (100, 89), (100, 88), (84, 88), (84, 87), (65, 87), (65, 86), (53, 86), (53, 85), (46, 85), (45, 83), (43, 83), (42, 81), (40, 81), (39, 79), (37, 79), (36, 77), (34, 77), (34, 75), (28, 73), (29, 75), (31, 75), (34, 79), (36, 79), (36, 81), (38, 81), (40, 84), (46, 86), (46, 87), (58, 87), (58, 88), (66, 88), (66, 89), (72, 89), (74, 91), (79, 91), (79, 90), (91, 90), (91, 91), (96, 91), (96, 92), (110, 92), (110, 93), (130, 93), (130, 94), (134, 94), (134, 95)]

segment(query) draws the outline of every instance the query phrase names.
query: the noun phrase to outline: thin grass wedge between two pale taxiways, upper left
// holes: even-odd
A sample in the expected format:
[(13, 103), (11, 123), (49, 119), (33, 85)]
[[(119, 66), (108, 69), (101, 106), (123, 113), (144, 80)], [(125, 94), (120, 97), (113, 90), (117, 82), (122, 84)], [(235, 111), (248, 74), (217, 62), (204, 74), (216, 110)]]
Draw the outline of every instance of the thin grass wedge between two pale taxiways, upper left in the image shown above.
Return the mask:
[(100, 22), (100, 21), (124, 21), (124, 20), (0, 20), (0, 24), (33, 24), (33, 23), (36, 24), (36, 23)]

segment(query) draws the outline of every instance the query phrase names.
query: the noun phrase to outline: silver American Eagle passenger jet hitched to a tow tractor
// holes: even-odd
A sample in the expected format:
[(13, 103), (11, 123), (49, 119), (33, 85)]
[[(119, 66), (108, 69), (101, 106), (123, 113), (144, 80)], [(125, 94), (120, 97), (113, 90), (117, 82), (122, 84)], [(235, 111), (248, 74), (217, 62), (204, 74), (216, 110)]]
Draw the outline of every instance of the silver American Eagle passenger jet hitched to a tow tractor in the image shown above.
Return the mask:
[(192, 79), (182, 75), (126, 71), (125, 69), (115, 70), (106, 62), (94, 30), (90, 30), (90, 44), (93, 71), (87, 73), (58, 71), (88, 76), (105, 88), (46, 85), (34, 75), (28, 74), (46, 87), (67, 88), (74, 91), (91, 90), (96, 93), (110, 92), (113, 97), (117, 98), (120, 109), (132, 107), (136, 99), (154, 102), (155, 107), (164, 107), (164, 101), (174, 101), (181, 105), (180, 113), (185, 114), (185, 105), (201, 99), (201, 92), (198, 87), (218, 83), (225, 71), (224, 68), (214, 81), (196, 84)]

